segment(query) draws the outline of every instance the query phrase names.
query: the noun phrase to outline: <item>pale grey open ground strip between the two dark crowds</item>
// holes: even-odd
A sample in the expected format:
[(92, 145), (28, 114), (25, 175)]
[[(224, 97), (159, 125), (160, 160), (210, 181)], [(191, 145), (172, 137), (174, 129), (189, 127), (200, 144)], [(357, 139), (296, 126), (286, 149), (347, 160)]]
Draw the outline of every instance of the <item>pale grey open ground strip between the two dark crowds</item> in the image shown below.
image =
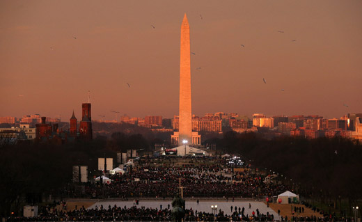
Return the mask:
[[(251, 209), (249, 209), (249, 203), (251, 204)], [(93, 205), (91, 205), (91, 207), (88, 207), (88, 209), (94, 209), (95, 206), (97, 205), (98, 209), (100, 208), (100, 205), (103, 205), (104, 208), (108, 208), (109, 205), (111, 205), (111, 207), (113, 207), (114, 205), (116, 205), (117, 207), (132, 207), (134, 206), (133, 200), (132, 201), (118, 201), (118, 200), (113, 200), (113, 201), (99, 201)], [(170, 205), (170, 208), (172, 208), (171, 205), (171, 201), (170, 200), (139, 200), (139, 205), (136, 205), (136, 207), (149, 207), (149, 208), (157, 208), (160, 209), (160, 205), (162, 205), (162, 209), (165, 209), (168, 207), (168, 205)], [(239, 207), (242, 209), (242, 207), (245, 208), (245, 215), (249, 214), (251, 215), (252, 212), (254, 211), (256, 214), (256, 209), (259, 209), (260, 214), (267, 214), (267, 212), (269, 212), (269, 214), (273, 214), (274, 215), (274, 219), (278, 220), (280, 219), (280, 217), (278, 216), (278, 213), (274, 212), (274, 210), (270, 207), (267, 207), (267, 205), (265, 205), (265, 203), (262, 202), (257, 202), (257, 201), (222, 201), (222, 200), (201, 200), (199, 204), (196, 203), (196, 200), (186, 200), (186, 208), (187, 209), (194, 209), (197, 210), (198, 212), (209, 212), (211, 213), (211, 205), (217, 205), (217, 211), (219, 212), (219, 209), (221, 209), (225, 214), (230, 215), (231, 210), (230, 207), (233, 206), (233, 211), (235, 210), (235, 206), (237, 207), (237, 209), (239, 209)]]

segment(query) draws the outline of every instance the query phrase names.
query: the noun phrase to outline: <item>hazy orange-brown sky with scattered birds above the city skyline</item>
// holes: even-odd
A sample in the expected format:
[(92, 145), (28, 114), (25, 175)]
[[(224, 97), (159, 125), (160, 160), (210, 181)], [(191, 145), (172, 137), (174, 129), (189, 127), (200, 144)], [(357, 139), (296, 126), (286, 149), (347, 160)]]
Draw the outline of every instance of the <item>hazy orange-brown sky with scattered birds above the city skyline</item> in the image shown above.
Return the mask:
[(362, 112), (360, 0), (2, 0), (0, 116), (178, 115), (184, 13), (194, 114)]

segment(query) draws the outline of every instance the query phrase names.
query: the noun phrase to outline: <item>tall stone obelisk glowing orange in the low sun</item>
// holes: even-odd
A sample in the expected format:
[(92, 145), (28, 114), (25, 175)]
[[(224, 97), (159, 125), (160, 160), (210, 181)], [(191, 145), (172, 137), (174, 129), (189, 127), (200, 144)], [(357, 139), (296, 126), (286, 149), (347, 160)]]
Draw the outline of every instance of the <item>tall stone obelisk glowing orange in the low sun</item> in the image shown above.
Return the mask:
[(192, 143), (190, 26), (186, 13), (181, 24), (179, 143)]

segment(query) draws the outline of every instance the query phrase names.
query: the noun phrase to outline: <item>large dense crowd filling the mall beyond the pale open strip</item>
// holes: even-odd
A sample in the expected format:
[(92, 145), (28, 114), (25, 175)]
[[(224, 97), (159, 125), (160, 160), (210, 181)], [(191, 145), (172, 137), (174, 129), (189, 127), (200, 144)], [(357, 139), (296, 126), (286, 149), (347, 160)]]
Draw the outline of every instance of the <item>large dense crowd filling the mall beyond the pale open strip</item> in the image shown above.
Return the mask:
[(276, 196), (288, 189), (265, 183), (265, 176), (235, 171), (218, 165), (183, 167), (134, 167), (132, 172), (112, 176), (111, 184), (87, 184), (88, 196), (109, 198), (172, 197), (183, 187), (184, 197)]

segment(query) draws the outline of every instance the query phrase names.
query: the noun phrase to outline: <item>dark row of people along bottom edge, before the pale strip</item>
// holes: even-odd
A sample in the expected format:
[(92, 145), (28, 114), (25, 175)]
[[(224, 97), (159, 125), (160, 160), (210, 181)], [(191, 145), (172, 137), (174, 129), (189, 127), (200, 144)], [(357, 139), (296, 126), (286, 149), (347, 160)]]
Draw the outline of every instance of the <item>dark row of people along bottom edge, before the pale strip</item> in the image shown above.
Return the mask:
[[(219, 209), (217, 214), (198, 212), (191, 209), (185, 210), (184, 221), (275, 221), (272, 214), (261, 214), (257, 212), (251, 215), (244, 214), (244, 209), (235, 210), (226, 214)], [(42, 207), (36, 217), (15, 216), (6, 218), (6, 221), (172, 221), (171, 208), (166, 209), (145, 208), (145, 207), (117, 207), (109, 205), (104, 208), (102, 205), (95, 209), (75, 209), (73, 211), (57, 211), (56, 208)], [(336, 217), (335, 215), (317, 216), (293, 216), (281, 217), (281, 221), (351, 221)]]

